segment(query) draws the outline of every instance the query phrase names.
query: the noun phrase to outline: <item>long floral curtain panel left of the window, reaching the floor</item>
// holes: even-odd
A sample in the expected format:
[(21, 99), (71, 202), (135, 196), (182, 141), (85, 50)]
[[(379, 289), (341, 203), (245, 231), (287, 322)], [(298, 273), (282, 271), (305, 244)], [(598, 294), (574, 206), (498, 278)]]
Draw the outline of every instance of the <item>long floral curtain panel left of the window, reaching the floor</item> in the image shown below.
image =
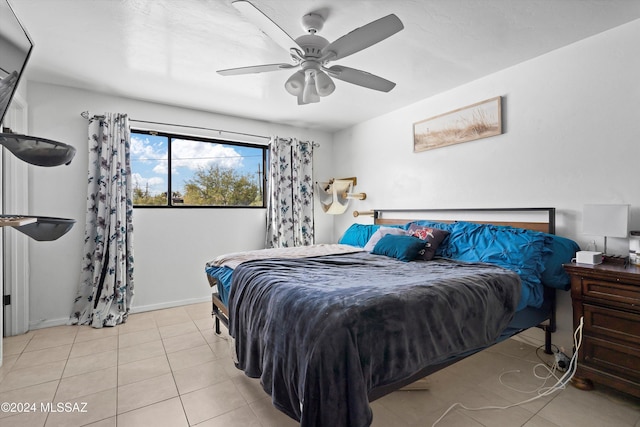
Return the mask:
[(129, 315), (134, 288), (130, 144), (126, 114), (90, 119), (84, 258), (72, 324), (115, 326)]

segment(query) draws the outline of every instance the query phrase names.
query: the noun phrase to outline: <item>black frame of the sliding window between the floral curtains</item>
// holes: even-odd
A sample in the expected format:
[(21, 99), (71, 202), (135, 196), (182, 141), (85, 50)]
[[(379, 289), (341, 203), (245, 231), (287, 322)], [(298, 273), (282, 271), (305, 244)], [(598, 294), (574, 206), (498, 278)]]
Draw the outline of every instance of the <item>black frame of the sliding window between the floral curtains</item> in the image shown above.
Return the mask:
[[(201, 137), (197, 135), (183, 135), (173, 132), (163, 132), (163, 131), (155, 131), (149, 129), (130, 129), (131, 135), (133, 134), (141, 134), (141, 135), (153, 135), (153, 136), (163, 136), (167, 137), (167, 204), (166, 205), (136, 205), (133, 204), (134, 209), (266, 209), (267, 208), (267, 188), (268, 188), (268, 173), (267, 173), (267, 158), (269, 155), (269, 146), (264, 144), (252, 144), (249, 142), (243, 141), (232, 141), (226, 139), (217, 139), (217, 138), (207, 138)], [(247, 147), (247, 148), (258, 148), (262, 150), (262, 205), (260, 206), (229, 206), (229, 205), (183, 205), (183, 204), (173, 204), (173, 198), (169, 197), (171, 194), (171, 144), (174, 139), (181, 140), (191, 140), (198, 142), (208, 142), (212, 144), (223, 144), (223, 145), (231, 145), (231, 146), (239, 146), (239, 147)], [(133, 168), (131, 172), (135, 172)]]

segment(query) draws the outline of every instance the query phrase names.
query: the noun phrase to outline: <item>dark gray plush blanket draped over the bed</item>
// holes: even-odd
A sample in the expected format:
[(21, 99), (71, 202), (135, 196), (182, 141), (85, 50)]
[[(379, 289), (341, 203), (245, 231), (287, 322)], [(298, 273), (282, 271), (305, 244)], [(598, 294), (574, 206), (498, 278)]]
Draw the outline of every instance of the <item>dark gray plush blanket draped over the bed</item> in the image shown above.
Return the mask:
[(368, 426), (369, 392), (493, 344), (517, 274), (488, 264), (356, 253), (249, 261), (234, 271), (239, 369), (309, 426)]

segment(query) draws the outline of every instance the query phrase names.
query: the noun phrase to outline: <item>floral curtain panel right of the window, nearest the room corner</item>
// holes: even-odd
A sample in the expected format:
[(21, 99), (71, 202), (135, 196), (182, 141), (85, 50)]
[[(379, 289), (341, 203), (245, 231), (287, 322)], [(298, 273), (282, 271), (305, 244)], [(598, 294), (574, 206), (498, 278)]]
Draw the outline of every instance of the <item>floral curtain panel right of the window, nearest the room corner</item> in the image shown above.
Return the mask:
[(313, 142), (273, 137), (269, 174), (266, 247), (312, 245)]

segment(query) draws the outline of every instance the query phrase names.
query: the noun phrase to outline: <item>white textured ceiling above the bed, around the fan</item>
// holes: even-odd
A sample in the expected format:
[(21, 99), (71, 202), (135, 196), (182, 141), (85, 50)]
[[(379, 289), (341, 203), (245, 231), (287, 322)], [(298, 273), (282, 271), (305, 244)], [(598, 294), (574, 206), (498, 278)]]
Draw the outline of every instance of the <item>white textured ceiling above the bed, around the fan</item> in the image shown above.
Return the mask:
[(327, 17), (329, 41), (389, 13), (404, 30), (331, 65), (397, 83), (389, 93), (336, 81), (318, 104), (284, 90), (290, 62), (231, 0), (10, 0), (35, 48), (27, 78), (215, 113), (334, 131), (640, 18), (640, 0), (253, 0), (289, 35)]

